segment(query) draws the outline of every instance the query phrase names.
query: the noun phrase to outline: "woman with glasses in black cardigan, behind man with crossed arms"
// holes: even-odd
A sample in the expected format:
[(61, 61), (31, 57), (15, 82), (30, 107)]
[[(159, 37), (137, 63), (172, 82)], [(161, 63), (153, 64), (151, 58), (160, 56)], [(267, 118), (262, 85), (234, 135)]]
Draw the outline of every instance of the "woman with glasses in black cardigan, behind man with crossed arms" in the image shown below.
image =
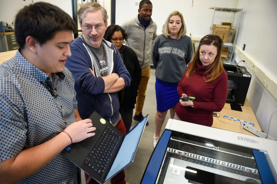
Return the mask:
[(133, 110), (136, 104), (139, 83), (141, 81), (141, 67), (138, 57), (134, 50), (123, 45), (124, 39), (128, 35), (119, 25), (111, 24), (107, 27), (104, 35), (106, 41), (113, 43), (118, 49), (126, 69), (131, 75), (131, 84), (129, 87), (120, 90), (118, 93), (119, 113), (123, 119), (127, 133), (132, 124)]

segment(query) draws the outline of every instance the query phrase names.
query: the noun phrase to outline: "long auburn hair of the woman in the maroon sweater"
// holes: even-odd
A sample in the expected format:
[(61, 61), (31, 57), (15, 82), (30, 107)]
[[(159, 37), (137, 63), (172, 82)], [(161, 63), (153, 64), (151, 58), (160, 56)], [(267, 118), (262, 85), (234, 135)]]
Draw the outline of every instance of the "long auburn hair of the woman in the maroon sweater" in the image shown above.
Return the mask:
[(186, 71), (187, 78), (193, 75), (196, 71), (197, 63), (200, 61), (199, 50), (201, 45), (214, 45), (217, 48), (216, 58), (214, 59), (214, 62), (207, 67), (203, 76), (205, 82), (208, 83), (214, 81), (222, 72), (224, 72), (224, 67), (219, 59), (221, 55), (223, 41), (218, 35), (206, 35), (201, 39), (198, 49), (195, 52), (194, 58)]

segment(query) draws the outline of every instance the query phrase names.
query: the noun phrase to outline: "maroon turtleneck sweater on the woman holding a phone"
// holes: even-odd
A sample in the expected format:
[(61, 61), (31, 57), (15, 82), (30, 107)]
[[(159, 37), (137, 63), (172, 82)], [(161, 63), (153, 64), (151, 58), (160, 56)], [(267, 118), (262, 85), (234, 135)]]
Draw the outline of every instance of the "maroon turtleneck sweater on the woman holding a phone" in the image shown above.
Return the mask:
[(186, 77), (187, 70), (185, 71), (177, 91), (180, 96), (185, 93), (195, 97), (194, 108), (177, 103), (176, 114), (182, 121), (212, 126), (213, 112), (221, 111), (227, 98), (228, 77), (224, 71), (217, 79), (207, 83), (203, 77), (206, 69), (206, 66), (198, 62), (196, 72), (189, 79)]

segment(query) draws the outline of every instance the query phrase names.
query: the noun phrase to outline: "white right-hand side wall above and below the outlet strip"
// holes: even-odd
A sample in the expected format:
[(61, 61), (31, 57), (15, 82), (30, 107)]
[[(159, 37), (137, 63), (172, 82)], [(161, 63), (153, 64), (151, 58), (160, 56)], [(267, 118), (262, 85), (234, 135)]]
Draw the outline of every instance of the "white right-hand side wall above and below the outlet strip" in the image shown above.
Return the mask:
[[(242, 48), (243, 44), (246, 44), (244, 53), (277, 84), (276, 56), (274, 54), (277, 40), (277, 1), (239, 0), (237, 6), (243, 8), (243, 14), (236, 46)], [(236, 56), (236, 60), (239, 61), (240, 58)], [(243, 62), (240, 64), (244, 65)], [(247, 98), (262, 130), (267, 132), (270, 115), (277, 108), (277, 100), (251, 72), (251, 69), (247, 68), (247, 70), (252, 74)], [(277, 138), (276, 130), (277, 113), (272, 117), (269, 135)]]

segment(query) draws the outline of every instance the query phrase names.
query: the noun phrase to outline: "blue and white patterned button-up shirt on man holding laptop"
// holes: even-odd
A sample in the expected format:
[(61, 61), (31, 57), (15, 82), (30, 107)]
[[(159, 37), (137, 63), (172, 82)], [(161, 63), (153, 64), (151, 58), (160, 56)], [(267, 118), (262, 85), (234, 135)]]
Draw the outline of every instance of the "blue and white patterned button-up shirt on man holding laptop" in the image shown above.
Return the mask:
[[(52, 93), (47, 84), (52, 84)], [(40, 145), (75, 122), (76, 92), (65, 68), (53, 79), (19, 51), (0, 65), (0, 162)], [(19, 183), (77, 183), (78, 168), (58, 154), (44, 168)]]

